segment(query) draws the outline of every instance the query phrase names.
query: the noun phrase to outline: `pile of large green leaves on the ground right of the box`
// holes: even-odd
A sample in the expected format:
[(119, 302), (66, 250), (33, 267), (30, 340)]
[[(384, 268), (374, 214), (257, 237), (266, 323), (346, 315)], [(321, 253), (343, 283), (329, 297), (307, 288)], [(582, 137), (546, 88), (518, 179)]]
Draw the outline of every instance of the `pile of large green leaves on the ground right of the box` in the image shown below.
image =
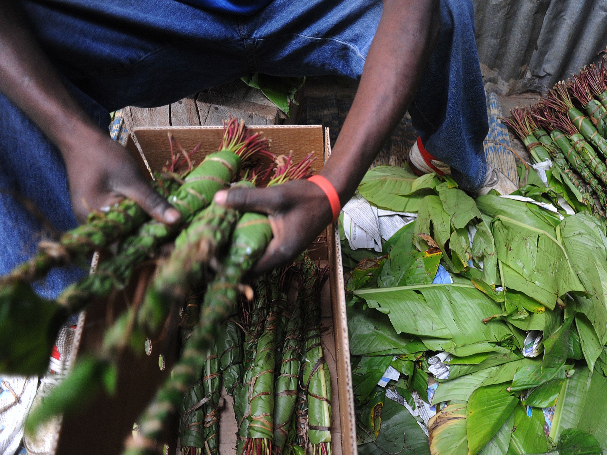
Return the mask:
[[(418, 214), (381, 253), (343, 242), (359, 450), (607, 450), (600, 221), (566, 214), (560, 190), (546, 189), (534, 170), (518, 195), (557, 212), (497, 194), (473, 200), (450, 178), (391, 166), (371, 169), (359, 192), (383, 209)], [(439, 266), (452, 283), (433, 283)], [(536, 356), (523, 356), (533, 340)], [(449, 355), (443, 379), (430, 371), (441, 352)], [(382, 388), (388, 366), (400, 377)], [(385, 399), (387, 391), (409, 409)]]

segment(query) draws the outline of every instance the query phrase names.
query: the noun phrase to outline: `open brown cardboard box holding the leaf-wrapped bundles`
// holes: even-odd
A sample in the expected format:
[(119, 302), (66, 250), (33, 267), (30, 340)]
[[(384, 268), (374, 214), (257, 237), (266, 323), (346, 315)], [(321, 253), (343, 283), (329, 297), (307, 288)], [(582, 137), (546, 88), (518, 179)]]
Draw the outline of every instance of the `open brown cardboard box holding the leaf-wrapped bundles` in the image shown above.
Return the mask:
[[(328, 129), (322, 126), (260, 126), (250, 127), (261, 131), (271, 139), (271, 151), (276, 155), (293, 152), (299, 161), (307, 153), (316, 152), (313, 167), (317, 171), (330, 155)], [(140, 158), (141, 167), (159, 170), (169, 157), (167, 133), (171, 132), (180, 144), (191, 150), (202, 141), (194, 155), (200, 163), (206, 153), (217, 150), (222, 136), (221, 127), (140, 127), (134, 130), (135, 138), (129, 138), (127, 148)], [(330, 266), (329, 285), (325, 286), (322, 307), (322, 342), (325, 358), (333, 383), (333, 453), (356, 455), (356, 428), (354, 423), (354, 399), (351, 385), (350, 347), (344, 297), (344, 276), (341, 246), (337, 225), (310, 245), (310, 255)], [(94, 260), (93, 260), (94, 261)], [(94, 267), (94, 264), (93, 264)], [(153, 261), (137, 268), (134, 279), (127, 289), (115, 292), (109, 298), (93, 302), (86, 313), (81, 314), (76, 330), (73, 352), (78, 356), (93, 351), (100, 345), (104, 330), (127, 305), (137, 301), (154, 274)], [(174, 311), (176, 313), (177, 311)], [(112, 397), (98, 396), (84, 406), (77, 416), (66, 417), (55, 435), (51, 453), (58, 455), (113, 455), (120, 454), (123, 443), (137, 417), (149, 403), (157, 387), (168, 377), (178, 353), (178, 320), (172, 314), (158, 339), (152, 340), (148, 356), (137, 357), (124, 352), (120, 359), (120, 376), (117, 392)], [(236, 453), (236, 421), (226, 398), (220, 419), (220, 454)], [(175, 453), (177, 448), (177, 419), (170, 422), (158, 441), (165, 453)]]

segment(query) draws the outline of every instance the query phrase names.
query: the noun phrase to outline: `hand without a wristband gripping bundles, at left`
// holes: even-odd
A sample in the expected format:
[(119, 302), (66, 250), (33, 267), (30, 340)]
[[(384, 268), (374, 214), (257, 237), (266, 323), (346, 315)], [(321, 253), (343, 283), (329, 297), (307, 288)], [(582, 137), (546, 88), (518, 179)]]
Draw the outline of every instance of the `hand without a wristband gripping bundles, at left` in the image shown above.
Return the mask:
[(63, 147), (62, 152), (78, 221), (84, 222), (90, 209), (104, 211), (124, 197), (155, 220), (173, 224), (179, 219), (179, 212), (144, 179), (131, 153), (108, 136), (93, 135), (86, 142)]

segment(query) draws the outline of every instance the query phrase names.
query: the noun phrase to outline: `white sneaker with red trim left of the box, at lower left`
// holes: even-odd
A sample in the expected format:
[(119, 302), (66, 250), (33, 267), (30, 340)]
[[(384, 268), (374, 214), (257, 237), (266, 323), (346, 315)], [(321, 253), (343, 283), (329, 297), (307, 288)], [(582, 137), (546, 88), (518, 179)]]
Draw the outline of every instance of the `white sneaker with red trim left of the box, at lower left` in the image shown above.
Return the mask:
[[(50, 357), (49, 371), (40, 380), (40, 386), (34, 399), (32, 409), (35, 409), (45, 397), (67, 376), (69, 361), (72, 354), (72, 343), (76, 326), (65, 326), (59, 331), (57, 341)], [(36, 434), (25, 435), (23, 443), (28, 455), (47, 455), (56, 444), (56, 437), (61, 425), (61, 416), (47, 420), (36, 430)]]

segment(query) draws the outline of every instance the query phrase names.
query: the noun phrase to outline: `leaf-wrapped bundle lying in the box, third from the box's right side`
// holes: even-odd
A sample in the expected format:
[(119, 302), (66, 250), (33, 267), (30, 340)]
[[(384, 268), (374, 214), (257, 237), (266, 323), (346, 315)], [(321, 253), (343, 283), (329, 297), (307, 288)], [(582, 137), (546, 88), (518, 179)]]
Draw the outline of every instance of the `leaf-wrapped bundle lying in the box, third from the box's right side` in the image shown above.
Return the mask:
[(249, 426), (244, 453), (270, 455), (274, 439), (274, 368), (276, 366), (276, 325), (280, 311), (280, 275), (270, 276), (270, 313), (257, 341), (249, 385)]

